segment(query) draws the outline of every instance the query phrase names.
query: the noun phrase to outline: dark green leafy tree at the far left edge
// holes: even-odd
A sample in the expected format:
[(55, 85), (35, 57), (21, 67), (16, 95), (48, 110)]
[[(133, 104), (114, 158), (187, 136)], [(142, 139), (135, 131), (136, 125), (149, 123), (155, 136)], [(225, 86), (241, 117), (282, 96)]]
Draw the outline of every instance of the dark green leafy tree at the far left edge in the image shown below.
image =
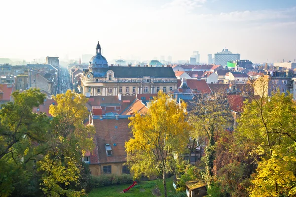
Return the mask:
[[(37, 89), (12, 93), (14, 102), (0, 109), (0, 196), (30, 190), (32, 173), (26, 165), (45, 152), (49, 119), (32, 113), (33, 107), (43, 103), (45, 95)], [(24, 190), (23, 190), (24, 191)], [(16, 192), (16, 193), (15, 193)], [(28, 194), (28, 193), (27, 193)], [(24, 195), (24, 193), (22, 194)], [(28, 195), (32, 196), (32, 195)]]

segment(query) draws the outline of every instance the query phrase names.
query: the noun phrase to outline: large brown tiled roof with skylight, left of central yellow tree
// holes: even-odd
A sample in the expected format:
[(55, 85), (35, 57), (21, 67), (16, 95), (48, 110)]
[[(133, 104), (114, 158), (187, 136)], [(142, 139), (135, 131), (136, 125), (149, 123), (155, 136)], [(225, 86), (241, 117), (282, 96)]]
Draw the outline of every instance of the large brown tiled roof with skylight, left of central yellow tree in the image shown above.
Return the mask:
[[(128, 127), (130, 120), (125, 119), (95, 119), (95, 145), (90, 157), (90, 164), (126, 162), (125, 142), (132, 137)], [(105, 146), (110, 144), (112, 153), (107, 156)]]

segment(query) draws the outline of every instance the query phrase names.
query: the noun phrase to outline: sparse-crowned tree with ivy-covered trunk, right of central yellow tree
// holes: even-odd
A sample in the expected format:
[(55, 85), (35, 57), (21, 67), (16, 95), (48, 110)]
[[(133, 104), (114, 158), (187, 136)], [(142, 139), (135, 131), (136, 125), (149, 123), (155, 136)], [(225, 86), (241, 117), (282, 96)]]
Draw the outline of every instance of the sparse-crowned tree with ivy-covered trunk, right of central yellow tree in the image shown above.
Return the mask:
[(206, 182), (210, 186), (213, 179), (215, 145), (225, 129), (231, 127), (232, 114), (222, 92), (211, 97), (201, 96), (196, 99), (189, 112), (189, 121), (194, 130), (190, 136), (207, 138), (204, 162), (206, 165)]

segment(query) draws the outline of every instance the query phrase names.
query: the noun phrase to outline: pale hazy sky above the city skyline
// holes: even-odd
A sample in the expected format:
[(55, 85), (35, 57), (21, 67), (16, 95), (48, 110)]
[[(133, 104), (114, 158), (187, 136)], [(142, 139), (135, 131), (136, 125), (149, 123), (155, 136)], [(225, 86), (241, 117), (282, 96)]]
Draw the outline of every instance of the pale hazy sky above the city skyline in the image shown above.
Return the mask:
[[(1, 0), (0, 58), (95, 54), (189, 60), (228, 48), (255, 63), (296, 58), (296, 0)], [(213, 55), (214, 56), (214, 55)]]

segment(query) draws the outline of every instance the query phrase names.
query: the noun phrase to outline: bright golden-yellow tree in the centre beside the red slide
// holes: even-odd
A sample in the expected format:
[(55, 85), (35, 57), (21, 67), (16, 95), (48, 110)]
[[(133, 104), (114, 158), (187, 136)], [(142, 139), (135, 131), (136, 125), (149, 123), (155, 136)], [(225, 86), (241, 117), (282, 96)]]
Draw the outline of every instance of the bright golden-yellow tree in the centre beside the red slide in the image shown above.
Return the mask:
[(174, 156), (184, 152), (191, 127), (186, 122), (186, 104), (162, 92), (151, 101), (146, 115), (130, 118), (133, 137), (125, 143), (127, 163), (134, 177), (159, 175), (166, 191), (166, 173), (172, 169)]

